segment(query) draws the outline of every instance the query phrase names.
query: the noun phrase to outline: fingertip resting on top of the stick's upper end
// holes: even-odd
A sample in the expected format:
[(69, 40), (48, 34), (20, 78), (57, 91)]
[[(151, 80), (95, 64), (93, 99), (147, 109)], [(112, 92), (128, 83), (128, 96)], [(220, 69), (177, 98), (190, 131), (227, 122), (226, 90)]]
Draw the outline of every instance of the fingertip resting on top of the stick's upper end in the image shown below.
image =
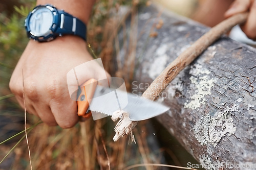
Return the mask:
[(240, 12), (246, 12), (249, 10), (250, 5), (251, 5), (251, 0), (236, 0), (232, 3), (230, 8), (225, 12), (224, 16), (230, 17)]

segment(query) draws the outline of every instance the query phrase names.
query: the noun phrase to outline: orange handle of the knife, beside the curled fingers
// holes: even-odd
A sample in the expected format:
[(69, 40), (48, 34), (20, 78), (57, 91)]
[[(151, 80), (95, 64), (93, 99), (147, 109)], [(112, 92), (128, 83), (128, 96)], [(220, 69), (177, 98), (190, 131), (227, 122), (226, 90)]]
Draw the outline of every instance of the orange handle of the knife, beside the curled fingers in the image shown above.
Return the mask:
[(86, 113), (86, 112), (89, 108), (89, 104), (91, 103), (91, 99), (93, 98), (97, 83), (98, 83), (97, 80), (90, 79), (80, 86), (80, 88), (82, 89), (82, 91), (84, 91), (84, 93), (82, 92), (78, 96), (79, 101), (77, 101), (77, 106), (78, 106), (77, 114), (79, 116), (88, 118), (92, 115), (91, 111), (89, 113)]

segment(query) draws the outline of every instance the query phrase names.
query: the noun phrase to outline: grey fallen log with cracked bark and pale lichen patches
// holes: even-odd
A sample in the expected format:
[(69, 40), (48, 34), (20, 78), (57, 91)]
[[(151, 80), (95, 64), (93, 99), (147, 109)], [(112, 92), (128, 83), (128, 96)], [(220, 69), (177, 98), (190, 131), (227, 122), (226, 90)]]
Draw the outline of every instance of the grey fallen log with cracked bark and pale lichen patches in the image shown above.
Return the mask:
[[(142, 11), (138, 33), (143, 34), (132, 82), (137, 94), (209, 30), (158, 8)], [(159, 20), (163, 25), (154, 28), (157, 36), (149, 38)], [(208, 169), (256, 168), (255, 56), (255, 48), (223, 36), (182, 70), (158, 99), (171, 107), (157, 117), (159, 122)]]

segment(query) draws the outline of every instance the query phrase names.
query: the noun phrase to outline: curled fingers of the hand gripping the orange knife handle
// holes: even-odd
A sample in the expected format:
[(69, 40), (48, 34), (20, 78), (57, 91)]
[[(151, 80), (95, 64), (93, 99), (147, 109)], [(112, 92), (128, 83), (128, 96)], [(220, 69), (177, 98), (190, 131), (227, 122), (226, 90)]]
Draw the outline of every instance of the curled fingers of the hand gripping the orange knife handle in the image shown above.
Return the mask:
[[(61, 128), (74, 126), (78, 122), (77, 105), (70, 99), (68, 90), (62, 85), (58, 86), (59, 90), (54, 91), (58, 87), (52, 87), (47, 81), (38, 83), (33, 80), (36, 78), (25, 79), (23, 89), (22, 79), (11, 79), (9, 87), (15, 94), (19, 105), (23, 109), (25, 108), (24, 91), (28, 113), (38, 116), (42, 122), (49, 126), (59, 125)], [(45, 87), (49, 87), (51, 90)], [(63, 95), (65, 92), (67, 96)]]

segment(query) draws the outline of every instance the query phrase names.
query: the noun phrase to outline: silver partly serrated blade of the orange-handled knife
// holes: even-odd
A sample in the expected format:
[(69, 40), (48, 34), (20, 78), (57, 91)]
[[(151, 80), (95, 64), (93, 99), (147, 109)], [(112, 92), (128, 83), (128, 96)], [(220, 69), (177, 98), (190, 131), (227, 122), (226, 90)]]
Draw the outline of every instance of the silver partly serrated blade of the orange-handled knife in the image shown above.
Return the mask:
[(129, 113), (131, 120), (139, 121), (160, 115), (169, 110), (169, 107), (118, 88), (97, 85), (89, 109), (94, 120), (112, 115), (117, 110), (123, 110)]

